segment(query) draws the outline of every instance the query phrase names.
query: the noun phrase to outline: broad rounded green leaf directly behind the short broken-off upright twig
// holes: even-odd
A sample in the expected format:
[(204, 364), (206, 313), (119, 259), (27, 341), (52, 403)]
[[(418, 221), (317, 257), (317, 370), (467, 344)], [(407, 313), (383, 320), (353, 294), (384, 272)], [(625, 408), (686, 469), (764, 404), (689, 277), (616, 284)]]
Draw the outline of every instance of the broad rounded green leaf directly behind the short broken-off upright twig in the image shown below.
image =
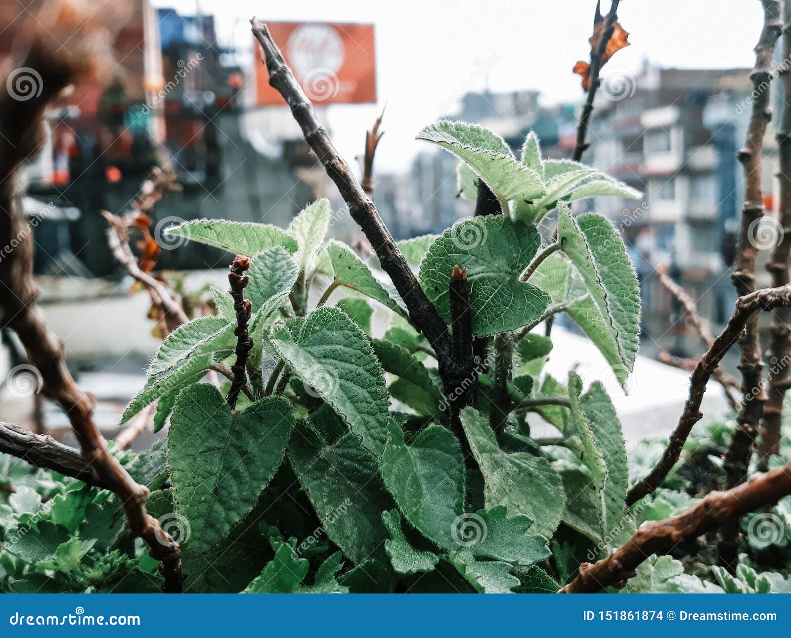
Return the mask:
[(520, 280), (541, 244), (533, 226), (488, 216), (454, 224), (434, 241), (418, 279), (437, 311), (450, 321), (448, 284), (453, 266), (467, 269), (476, 335), (515, 330), (535, 321), (549, 296)]

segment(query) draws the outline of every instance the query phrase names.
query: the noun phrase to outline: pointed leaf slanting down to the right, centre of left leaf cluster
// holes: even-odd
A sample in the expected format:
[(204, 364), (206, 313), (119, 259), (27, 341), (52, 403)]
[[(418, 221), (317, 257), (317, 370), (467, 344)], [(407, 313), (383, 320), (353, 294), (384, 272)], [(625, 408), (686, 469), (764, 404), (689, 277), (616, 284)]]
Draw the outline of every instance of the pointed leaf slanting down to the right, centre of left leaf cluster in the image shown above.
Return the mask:
[(271, 330), (271, 343), (312, 392), (380, 456), (387, 440), (388, 390), (373, 348), (343, 311), (322, 307)]

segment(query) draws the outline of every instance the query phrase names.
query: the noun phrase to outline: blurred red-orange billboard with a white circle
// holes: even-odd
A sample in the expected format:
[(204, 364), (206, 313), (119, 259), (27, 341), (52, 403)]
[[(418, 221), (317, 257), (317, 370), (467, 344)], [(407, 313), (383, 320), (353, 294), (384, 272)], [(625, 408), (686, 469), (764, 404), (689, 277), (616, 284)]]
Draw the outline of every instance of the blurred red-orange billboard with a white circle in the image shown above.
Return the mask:
[[(267, 22), (305, 94), (314, 104), (377, 101), (377, 59), (373, 25), (327, 22)], [(256, 104), (282, 106), (280, 93), (255, 44)]]

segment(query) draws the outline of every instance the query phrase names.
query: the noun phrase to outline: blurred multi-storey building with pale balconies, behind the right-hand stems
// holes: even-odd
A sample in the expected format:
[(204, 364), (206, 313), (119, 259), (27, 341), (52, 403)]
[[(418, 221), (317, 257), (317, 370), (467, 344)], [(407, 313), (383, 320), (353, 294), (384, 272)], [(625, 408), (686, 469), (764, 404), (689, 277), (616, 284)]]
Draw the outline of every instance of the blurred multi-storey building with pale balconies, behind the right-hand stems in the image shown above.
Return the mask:
[[(674, 354), (700, 351), (697, 337), (674, 325), (680, 309), (654, 268), (668, 268), (715, 332), (736, 300), (729, 273), (744, 203), (736, 154), (747, 130), (749, 74), (646, 65), (636, 78), (620, 78), (619, 93), (608, 91), (605, 80), (596, 100), (585, 161), (645, 194), (642, 201), (603, 197), (591, 204), (619, 227), (637, 268), (649, 350), (661, 341)], [(771, 130), (765, 152), (764, 199), (771, 210)]]

